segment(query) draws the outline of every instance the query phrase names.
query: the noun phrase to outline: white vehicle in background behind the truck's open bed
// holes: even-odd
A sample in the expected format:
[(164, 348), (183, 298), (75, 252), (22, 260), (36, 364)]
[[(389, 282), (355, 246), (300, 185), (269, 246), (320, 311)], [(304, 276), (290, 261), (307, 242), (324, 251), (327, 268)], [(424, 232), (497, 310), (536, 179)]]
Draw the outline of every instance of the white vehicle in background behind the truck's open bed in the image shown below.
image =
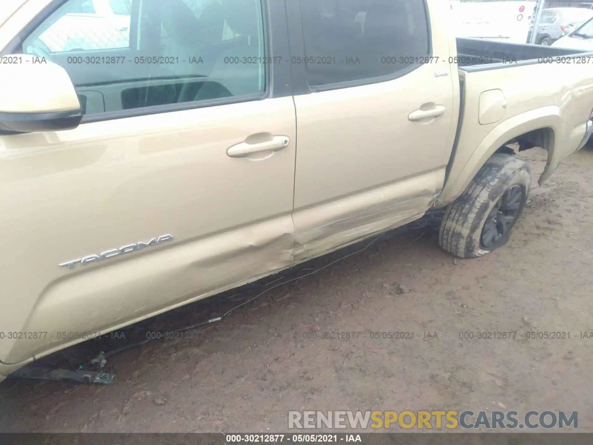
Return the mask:
[(457, 37), (527, 42), (536, 0), (449, 0)]

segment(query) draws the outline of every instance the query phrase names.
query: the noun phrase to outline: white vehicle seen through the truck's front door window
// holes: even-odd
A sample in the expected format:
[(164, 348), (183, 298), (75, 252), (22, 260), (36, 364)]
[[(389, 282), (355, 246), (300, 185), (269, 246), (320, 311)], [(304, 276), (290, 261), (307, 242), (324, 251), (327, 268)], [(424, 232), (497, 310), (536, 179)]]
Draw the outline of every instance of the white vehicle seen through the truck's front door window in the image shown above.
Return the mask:
[(34, 46), (49, 53), (129, 46), (132, 0), (79, 0), (54, 13)]

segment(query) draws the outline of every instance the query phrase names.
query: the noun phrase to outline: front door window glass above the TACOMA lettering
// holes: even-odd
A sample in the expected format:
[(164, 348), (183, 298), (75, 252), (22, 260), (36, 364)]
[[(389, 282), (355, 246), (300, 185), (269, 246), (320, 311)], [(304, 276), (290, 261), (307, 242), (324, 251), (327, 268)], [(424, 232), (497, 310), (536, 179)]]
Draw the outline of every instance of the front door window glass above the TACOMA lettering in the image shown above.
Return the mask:
[(98, 1), (139, 14), (132, 43), (136, 20), (72, 15), (81, 0), (66, 2), (23, 43), (25, 53), (68, 71), (87, 114), (265, 93), (260, 0)]

